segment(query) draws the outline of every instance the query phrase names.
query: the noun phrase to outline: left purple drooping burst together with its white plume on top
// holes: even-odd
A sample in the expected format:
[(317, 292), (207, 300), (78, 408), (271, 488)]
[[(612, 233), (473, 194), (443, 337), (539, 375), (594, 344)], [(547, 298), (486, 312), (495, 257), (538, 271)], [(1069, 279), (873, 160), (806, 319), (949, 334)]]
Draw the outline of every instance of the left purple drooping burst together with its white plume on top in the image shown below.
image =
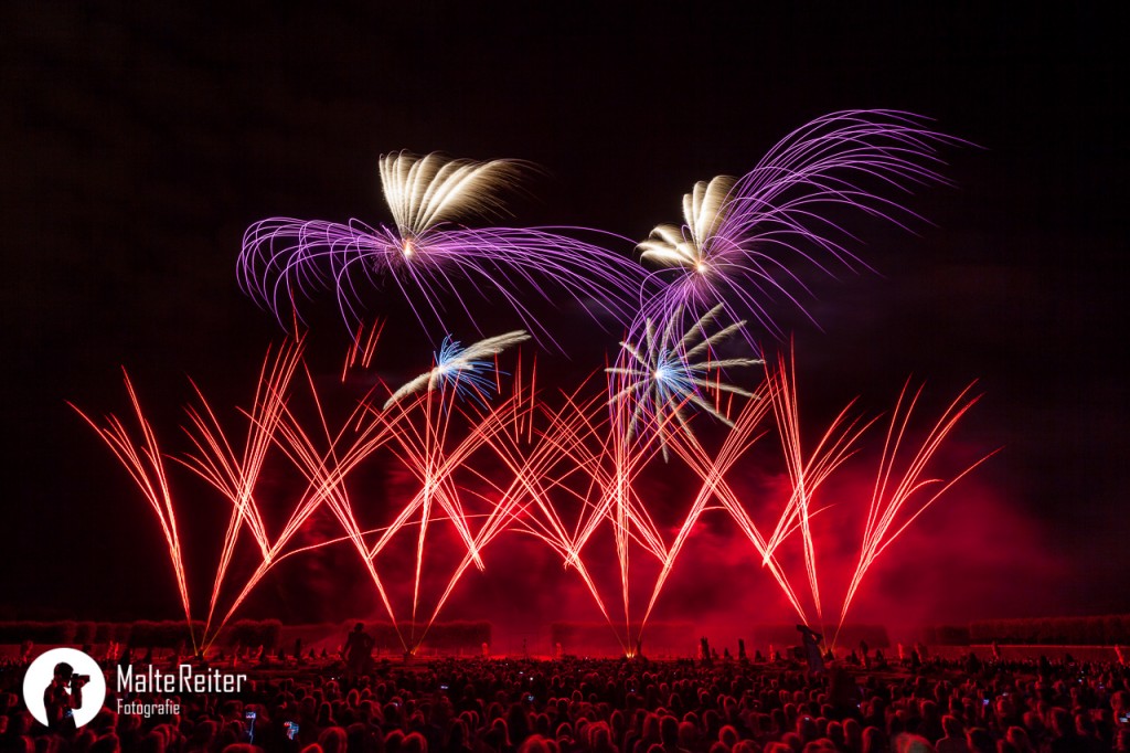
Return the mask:
[(541, 340), (551, 338), (525, 302), (529, 294), (554, 303), (571, 297), (598, 319), (631, 318), (637, 292), (647, 284), (643, 269), (627, 256), (566, 234), (580, 228), (451, 224), (468, 214), (497, 213), (497, 194), (514, 183), (522, 163), (401, 152), (383, 156), (380, 167), (392, 226), (356, 219), (258, 222), (243, 236), (241, 287), (280, 320), (299, 300), (328, 288), (342, 318), (353, 322), (372, 289), (391, 280), (433, 332), (436, 324), (447, 331), (446, 320), (459, 311), (473, 326), (468, 298), (475, 295), (508, 306)]

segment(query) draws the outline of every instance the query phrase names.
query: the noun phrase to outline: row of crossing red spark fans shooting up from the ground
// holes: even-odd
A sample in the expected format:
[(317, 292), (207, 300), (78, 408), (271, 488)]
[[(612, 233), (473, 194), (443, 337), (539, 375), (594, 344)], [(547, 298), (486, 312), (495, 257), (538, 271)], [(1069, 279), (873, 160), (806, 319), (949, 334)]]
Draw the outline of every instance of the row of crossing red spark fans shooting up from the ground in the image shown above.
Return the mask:
[[(490, 408), (485, 401), (472, 400), (471, 407), (457, 407), (457, 401), (468, 401), (467, 396), (455, 382), (444, 382), (435, 390), (415, 393), (402, 401), (397, 401), (393, 405), (393, 410), (381, 412), (374, 407), (371, 391), (370, 396), (363, 399), (345, 421), (342, 429), (334, 434), (329, 429), (325, 413), (322, 409), (322, 400), (313, 376), (307, 370), (306, 381), (318, 410), (321, 433), (324, 434), (324, 444), (328, 448), (319, 450), (318, 442), (306, 434), (301, 422), (289, 408), (287, 391), (293, 371), (299, 362), (301, 344), (298, 343), (281, 349), (273, 364), (270, 353), (268, 353), (260, 373), (253, 406), (245, 414), (253, 425), (249, 431), (242, 458), (236, 457), (232, 443), (224, 434), (220, 422), (199, 388), (197, 388), (197, 392), (203, 405), (203, 410), (189, 410), (195, 435), (192, 432), (189, 434), (194, 436), (199, 456), (190, 456), (190, 461), (185, 461), (184, 465), (193, 467), (194, 464), (198, 473), (224, 493), (233, 504), (228, 534), (225, 538), (226, 554), (221, 556), (220, 568), (226, 568), (226, 563), (231, 561), (231, 553), (227, 551), (228, 542), (234, 540), (233, 528), (237, 533), (241, 525), (249, 528), (261, 554), (261, 562), (255, 572), (249, 578), (224, 618), (209, 635), (208, 625), (212, 623), (218, 585), (214, 589), (212, 608), (209, 612), (209, 620), (199, 643), (193, 635), (194, 646), (199, 646), (201, 650), (207, 650), (246, 596), (275, 564), (292, 554), (337, 540), (350, 540), (365, 561), (366, 570), (390, 617), (397, 624), (399, 634), (395, 613), (376, 569), (375, 557), (397, 533), (406, 530), (408, 527), (418, 526), (416, 581), (412, 597), (415, 631), (416, 609), (420, 594), (420, 566), (424, 556), (423, 540), (428, 525), (443, 520), (455, 527), (467, 546), (467, 552), (441, 594), (431, 618), (424, 626), (424, 633), (419, 637), (419, 641), (423, 641), (428, 628), (436, 620), (467, 568), (471, 564), (481, 568), (483, 549), (507, 529), (532, 534), (560, 554), (566, 568), (574, 566), (577, 570), (601, 613), (612, 625), (614, 621), (610, 618), (599, 589), (583, 560), (583, 552), (594, 533), (603, 525), (608, 525), (615, 539), (625, 616), (624, 638), (615, 628), (614, 633), (620, 641), (621, 648), (631, 654), (633, 625), (628, 598), (628, 588), (632, 582), (631, 548), (641, 547), (654, 556), (660, 564), (660, 574), (652, 589), (651, 600), (642, 620), (637, 623), (640, 634), (642, 634), (690, 530), (707, 509), (710, 500), (715, 497), (723, 509), (731, 512), (739, 527), (754, 543), (762, 556), (763, 565), (770, 569), (771, 574), (777, 580), (798, 615), (807, 623), (805, 611), (776, 562), (774, 552), (788, 536), (799, 530), (806, 539), (806, 557), (812, 554), (811, 533), (807, 528), (807, 522), (818, 511), (812, 510), (811, 497), (828, 475), (849, 457), (851, 447), (859, 435), (873, 423), (863, 424), (858, 418), (849, 421), (846, 418), (851, 407), (849, 405), (832, 422), (832, 426), (824, 434), (817, 448), (805, 461), (799, 430), (796, 367), (792, 364), (786, 365), (784, 357), (781, 356), (777, 369), (768, 372), (767, 388), (759, 396), (759, 399), (747, 403), (736, 421), (728, 421), (732, 429), (725, 435), (721, 449), (713, 457), (707, 455), (694, 434), (679, 432), (672, 435), (676, 441), (672, 441), (671, 447), (676, 455), (698, 474), (703, 483), (675, 540), (667, 545), (659, 527), (651, 519), (647, 507), (643, 504), (634, 488), (635, 479), (658, 457), (658, 451), (654, 445), (649, 449), (647, 443), (626, 440), (628, 436), (627, 427), (633, 421), (632, 406), (627, 401), (619, 405), (618, 409), (606, 412), (599, 396), (588, 400), (581, 400), (577, 397), (583, 389), (582, 386), (576, 392), (566, 396), (565, 405), (558, 410), (546, 409), (545, 406), (540, 407), (541, 415), (549, 418), (548, 426), (534, 434), (532, 419), (534, 380), (531, 372), (529, 387), (525, 387), (522, 371), (519, 369), (514, 379), (514, 396), (501, 406)], [(108, 429), (102, 429), (85, 414), (79, 413), (130, 470), (146, 493), (150, 505), (157, 512), (174, 571), (177, 574), (185, 617), (191, 625), (184, 564), (181, 557), (172, 499), (162, 465), (163, 456), (157, 449), (156, 436), (141, 413), (140, 404), (128, 376), (125, 383), (141, 425), (142, 442), (133, 441), (123, 424), (113, 416), (108, 418)], [(899, 512), (906, 507), (911, 496), (931, 485), (942, 484), (939, 479), (923, 481), (922, 475), (950, 430), (964, 413), (976, 403), (977, 398), (966, 399), (968, 389), (966, 388), (947, 408), (921, 449), (913, 457), (901, 481), (897, 478), (895, 469), (896, 460), (901, 456), (911, 414), (921, 389), (912, 398), (907, 398), (904, 388), (903, 395), (899, 396), (880, 460), (876, 491), (872, 495), (864, 529), (860, 563), (844, 598), (841, 626), (860, 581), (878, 554), (897, 538), (927, 507), (989, 457), (982, 458), (945, 483), (937, 493), (919, 504), (902, 522), (898, 521)], [(905, 410), (904, 404), (909, 404)], [(727, 484), (725, 474), (736, 465), (740, 456), (757, 441), (758, 436), (754, 435), (754, 431), (763, 417), (767, 415), (770, 406), (773, 407), (777, 418), (779, 432), (785, 451), (785, 464), (793, 482), (793, 492), (777, 522), (776, 530), (766, 540), (746, 513), (733, 490)], [(424, 415), (423, 422), (410, 418), (419, 413)], [(655, 416), (649, 416), (649, 418), (673, 422), (676, 421), (673, 415), (670, 413), (666, 418)], [(452, 422), (455, 419), (460, 424), (467, 424), (468, 431), (467, 435), (458, 441), (454, 448), (451, 448), (449, 434)], [(351, 434), (349, 434), (350, 430)], [(347, 434), (349, 434), (348, 440)], [(523, 435), (529, 440), (527, 447), (520, 447), (520, 439)], [(532, 442), (533, 436), (537, 436), (537, 442)], [(307, 491), (275, 542), (270, 542), (268, 537), (261, 511), (257, 507), (252, 493), (259, 469), (266, 457), (267, 442), (279, 444), (308, 482)], [(345, 481), (354, 468), (386, 444), (390, 445), (393, 455), (416, 474), (421, 488), (391, 526), (384, 529), (364, 530), (354, 513), (355, 502), (346, 490)], [(512, 476), (508, 486), (499, 485), (495, 478), (476, 469), (473, 464), (469, 462), (472, 456), (483, 450), (489, 450), (493, 453), (492, 457), (502, 460)], [(468, 493), (468, 490), (466, 485), (454, 479), (453, 474), (461, 468), (471, 473), (479, 483), (484, 484), (486, 492), (471, 493), (490, 503), (489, 512), (485, 514), (469, 513), (460, 502), (460, 495)], [(572, 488), (573, 485), (567, 478), (573, 475), (588, 478), (588, 488), (582, 491)], [(580, 503), (581, 511), (572, 530), (565, 523), (558, 505), (551, 499), (554, 493), (566, 493)], [(329, 539), (288, 551), (288, 543), (322, 505), (325, 505), (337, 518), (346, 535), (339, 539)], [(436, 514), (433, 508), (442, 510), (445, 514)], [(417, 513), (419, 513), (419, 519), (414, 520), (412, 518)], [(469, 522), (471, 519), (485, 522), (477, 530), (472, 530)], [(370, 545), (367, 540), (373, 535), (377, 535), (377, 540)], [(806, 560), (806, 566), (808, 562)], [(807, 569), (811, 581), (815, 568), (807, 566)], [(217, 583), (221, 580), (223, 578), (218, 578)], [(814, 587), (814, 600), (819, 608), (818, 598)], [(406, 649), (409, 648), (403, 635), (401, 635), (401, 641)], [(417, 647), (419, 641), (414, 635), (412, 648)]]

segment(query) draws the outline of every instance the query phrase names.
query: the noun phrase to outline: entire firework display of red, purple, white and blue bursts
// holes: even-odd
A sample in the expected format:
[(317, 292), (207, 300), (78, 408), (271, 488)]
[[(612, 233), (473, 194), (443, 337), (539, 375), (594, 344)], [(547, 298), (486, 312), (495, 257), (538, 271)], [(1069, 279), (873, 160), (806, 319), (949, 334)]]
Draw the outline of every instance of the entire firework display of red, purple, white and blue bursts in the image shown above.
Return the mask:
[[(847, 248), (852, 235), (840, 209), (905, 225), (914, 215), (886, 193), (942, 182), (936, 149), (957, 142), (909, 113), (819, 118), (740, 178), (695, 184), (684, 199), (685, 224), (655, 227), (638, 245), (638, 261), (606, 248), (624, 240), (614, 233), (455, 224), (497, 215), (499, 193), (521, 178), (523, 163), (385, 155), (380, 176), (391, 225), (255, 223), (244, 236), (238, 280), (280, 321), (297, 320), (299, 303), (329, 289), (350, 326), (377, 301), (375, 289), (392, 287), (437, 345), (428, 370), (398, 388), (377, 375), (374, 363), (406, 366), (379, 354), (382, 328), (395, 323), (385, 319), (353, 336), (340, 381), (365, 374), (371, 387), (359, 398), (347, 392), (344, 417), (334, 409), (344, 384), (318, 379), (304, 353), (308, 332), (268, 352), (238, 426), (193, 386), (186, 453), (162, 449), (128, 376), (137, 432), (113, 415), (81, 415), (158, 518), (198, 650), (280, 562), (340, 546), (356, 554), (354, 574), (371, 581), (403, 649), (414, 651), (463, 575), (486, 570), (484, 553), (514, 534), (575, 573), (631, 656), (687, 542), (715, 510), (748, 540), (749, 565), (771, 575), (796, 616), (826, 625), (836, 614), (835, 631), (879, 554), (984, 460), (956, 471), (935, 462), (977, 398), (963, 391), (914, 447), (911, 419), (922, 390), (898, 397), (870, 499), (837, 502), (857, 505), (863, 522), (840, 531), (859, 542), (859, 559), (846, 589), (829, 592), (822, 588), (824, 542), (812, 526), (827, 508), (820, 490), (841, 468), (866, 460), (858, 450), (879, 418), (849, 405), (810, 445), (792, 357), (766, 363), (756, 343), (780, 334), (774, 298), (798, 302), (803, 266), (866, 266)], [(452, 332), (484, 334), (480, 298), (501, 305), (511, 331), (464, 347)], [(572, 302), (623, 327), (612, 363), (580, 384), (547, 388), (529, 348), (560, 349), (560, 338), (538, 320), (531, 300)], [(789, 482), (783, 500), (740, 483), (755, 449), (773, 447), (766, 434), (779, 439)], [(168, 482), (169, 459), (229, 505), (206, 612), (189, 592), (186, 573), (202, 563), (182, 543), (177, 512), (184, 517), (185, 503)], [(272, 464), (301, 483), (263, 493)], [(668, 473), (693, 483), (659, 509), (649, 484)], [(375, 484), (382, 474), (397, 483)], [(793, 572), (797, 562), (802, 573)], [(442, 577), (425, 578), (429, 568)], [(194, 629), (201, 616), (202, 629)]]

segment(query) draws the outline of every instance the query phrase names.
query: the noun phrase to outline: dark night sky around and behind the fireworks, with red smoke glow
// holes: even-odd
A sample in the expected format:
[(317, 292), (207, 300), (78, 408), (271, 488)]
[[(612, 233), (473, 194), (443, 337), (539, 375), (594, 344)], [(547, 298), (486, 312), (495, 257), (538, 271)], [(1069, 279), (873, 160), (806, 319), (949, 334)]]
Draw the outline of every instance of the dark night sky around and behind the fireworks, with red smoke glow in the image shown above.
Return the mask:
[[(128, 414), (124, 366), (171, 449), (183, 444), (188, 376), (218, 405), (245, 405), (284, 335), (236, 285), (251, 223), (383, 222), (376, 159), (407, 148), (531, 161), (541, 171), (508, 204), (514, 225), (642, 240), (679, 219), (695, 181), (744, 173), (815, 116), (871, 107), (928, 115), (976, 146), (944, 152), (955, 187), (904, 197), (930, 220), (914, 233), (853, 226), (852, 250), (873, 271), (805, 270), (818, 326), (774, 309), (796, 341), (802, 409), (826, 423), (860, 396), (878, 413), (913, 375), (937, 410), (977, 380), (984, 397), (955, 452), (1003, 448), (892, 555), (905, 566), (892, 559), (877, 578), (873, 608), (904, 603), (933, 622), (1130, 612), (1120, 261), (1130, 165), (1113, 17), (949, 3), (883, 16), (817, 3), (463, 5), (0, 11), (0, 618), (176, 616), (155, 521), (68, 401)], [(426, 369), (432, 347), (385, 298), (374, 292), (371, 313), (391, 318), (381, 369), (395, 381)], [(304, 312), (311, 365), (333, 372), (348, 341), (333, 301)], [(481, 317), (485, 329), (515, 324), (502, 309)], [(560, 317), (570, 357), (539, 358), (566, 382), (601, 365), (619, 334)], [(193, 526), (225, 519), (199, 486), (183, 500)], [(495, 556), (497, 579), (488, 569), (469, 582), (450, 616), (488, 616), (476, 600), (528, 587), (505, 551)], [(705, 556), (690, 552), (698, 574), (672, 587), (714, 594)], [(344, 573), (360, 580), (359, 569)], [(323, 601), (367, 594), (364, 582), (333, 590), (301, 569), (284, 574), (251, 614), (344, 618), (349, 607)], [(545, 597), (558, 581), (540, 582)], [(773, 608), (766, 620), (790, 618)]]

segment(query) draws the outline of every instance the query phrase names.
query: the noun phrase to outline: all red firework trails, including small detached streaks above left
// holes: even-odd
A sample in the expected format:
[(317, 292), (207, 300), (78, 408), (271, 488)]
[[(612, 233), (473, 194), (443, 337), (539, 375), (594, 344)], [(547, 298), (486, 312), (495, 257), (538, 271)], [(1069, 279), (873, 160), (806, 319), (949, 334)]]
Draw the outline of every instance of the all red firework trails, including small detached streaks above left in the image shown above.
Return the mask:
[[(368, 367), (379, 335), (379, 326), (367, 337), (364, 331), (358, 332), (346, 357), (345, 374), (350, 369)], [(807, 623), (806, 599), (798, 596), (779, 559), (780, 547), (789, 537), (793, 533), (800, 535), (815, 616), (823, 622), (828, 599), (819, 589), (819, 542), (810, 521), (822, 511), (815, 507), (818, 491), (854, 455), (859, 439), (877, 421), (852, 417), (850, 412), (854, 401), (836, 415), (815, 447), (807, 449), (802, 441), (796, 366), (792, 360), (786, 362), (783, 356), (779, 357), (776, 367), (767, 370), (764, 386), (740, 406), (736, 417), (731, 416), (732, 406), (727, 406), (723, 418), (728, 431), (712, 450), (679, 421), (681, 404), (664, 403), (661, 409), (640, 410), (631, 400), (608, 400), (609, 393), (617, 393), (610, 389), (615, 384), (591, 390), (593, 380), (590, 378), (576, 390), (563, 393), (557, 407), (551, 407), (537, 397), (537, 371), (523, 369), (521, 355), (507, 396), (492, 399), (490, 392), (502, 391), (502, 372), (495, 363), (487, 379), (489, 370), (484, 365), (487, 362), (476, 363), (477, 371), (468, 367), (466, 381), (461, 381), (461, 371), (446, 371), (434, 386), (429, 382), (426, 390), (406, 393), (384, 407), (379, 407), (381, 401), (375, 392), (389, 390), (376, 380), (334, 426), (324, 409), (325, 398), (313, 374), (304, 366), (301, 338), (288, 341), (273, 355), (269, 349), (264, 357), (251, 407), (242, 412), (246, 426), (241, 429), (243, 439), (240, 442), (229, 439), (236, 432), (225, 430), (217, 412), (193, 383), (199, 406), (186, 408), (185, 432), (194, 450), (180, 462), (232, 505), (220, 539), (208, 616), (200, 635), (192, 632), (185, 563), (165, 456), (159, 451), (156, 434), (142, 414), (129, 376), (125, 375), (125, 387), (140, 427), (139, 438), (131, 435), (113, 415), (98, 423), (79, 410), (130, 473), (158, 518), (190, 635), (198, 651), (212, 644), (257, 585), (280, 561), (344, 542), (349, 542), (360, 557), (405, 649), (415, 650), (466, 571), (472, 565), (485, 568), (485, 548), (502, 534), (516, 531), (546, 544), (562, 557), (566, 569), (577, 573), (625, 654), (631, 656), (696, 523), (713, 509), (729, 513), (753, 545), (760, 565), (768, 570), (798, 616)], [(304, 366), (313, 422), (301, 417), (301, 412), (292, 405), (294, 375), (299, 365)], [(713, 383), (719, 383), (716, 376), (714, 380)], [(843, 597), (836, 633), (878, 555), (946, 491), (991, 457), (992, 453), (981, 458), (948, 479), (927, 477), (940, 447), (979, 399), (968, 396), (971, 388), (946, 408), (920, 447), (907, 450), (905, 445), (912, 443), (907, 439), (909, 427), (922, 389), (911, 395), (910, 386), (904, 387), (879, 458), (863, 523), (860, 559)], [(718, 410), (720, 395), (714, 395), (713, 400), (721, 415)], [(771, 410), (783, 450), (790, 493), (775, 522), (765, 529), (772, 531), (766, 536), (751, 514), (753, 503), (760, 501), (739, 499), (730, 478), (766, 431), (772, 431), (763, 429)], [(303, 413), (307, 414), (308, 409)], [(663, 438), (662, 441), (659, 438)], [(285, 522), (278, 531), (270, 530), (266, 513), (271, 511), (262, 509), (255, 494), (272, 447), (305, 479), (305, 486), (295, 495), (293, 507), (286, 510)], [(638, 483), (647, 469), (666, 464), (664, 450), (670, 450), (699, 481), (697, 492), (677, 512), (673, 538), (653, 519), (652, 508), (643, 499)], [(350, 490), (350, 484), (355, 471), (379, 452), (408, 471), (416, 482), (416, 491), (400, 507), (380, 505), (380, 512), (391, 520), (372, 527), (363, 525), (362, 520), (377, 505), (356, 488)], [(904, 461), (907, 455), (910, 459)], [(307, 530), (312, 516), (323, 509), (342, 535), (296, 545), (296, 536)], [(843, 509), (850, 513), (850, 504), (844, 504)], [(421, 607), (429, 600), (423, 592), (426, 552), (438, 523), (451, 527), (462, 553), (450, 577), (442, 581), (443, 588), (437, 591), (434, 605), (421, 615)], [(221, 608), (221, 597), (232, 587), (233, 563), (244, 530), (255, 552), (253, 570), (238, 587), (235, 598)], [(592, 557), (600, 556), (593, 552), (594, 539), (598, 531), (605, 530), (611, 535), (617, 563), (618, 600), (623, 609), (620, 625), (617, 624), (619, 616), (614, 617), (614, 612), (619, 609), (609, 608), (592, 574)], [(411, 563), (408, 566), (398, 563), (395, 572), (411, 572), (411, 603), (395, 607), (389, 589), (392, 570), (384, 570), (380, 564), (383, 560), (379, 557), (392, 551), (389, 545), (401, 540), (398, 539), (401, 534), (412, 538)], [(633, 582), (640, 582), (640, 570), (634, 566), (638, 552), (634, 549), (642, 551), (647, 559), (653, 557), (659, 568), (642, 612), (629, 594)], [(389, 556), (384, 554), (384, 560)], [(428, 615), (426, 622), (418, 622), (424, 615)], [(406, 616), (412, 626), (408, 635), (401, 630)], [(423, 631), (417, 635), (416, 628), (420, 624)]]

